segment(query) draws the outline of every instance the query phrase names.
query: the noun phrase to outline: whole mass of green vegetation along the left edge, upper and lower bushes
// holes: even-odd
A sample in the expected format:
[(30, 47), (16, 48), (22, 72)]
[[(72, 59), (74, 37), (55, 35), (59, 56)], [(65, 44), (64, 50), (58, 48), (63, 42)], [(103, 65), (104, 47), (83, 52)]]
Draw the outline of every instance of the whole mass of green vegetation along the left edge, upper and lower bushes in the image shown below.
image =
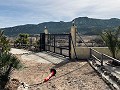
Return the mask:
[(10, 44), (4, 32), (0, 31), (0, 90), (4, 89), (13, 69), (21, 67), (20, 61), (9, 53)]

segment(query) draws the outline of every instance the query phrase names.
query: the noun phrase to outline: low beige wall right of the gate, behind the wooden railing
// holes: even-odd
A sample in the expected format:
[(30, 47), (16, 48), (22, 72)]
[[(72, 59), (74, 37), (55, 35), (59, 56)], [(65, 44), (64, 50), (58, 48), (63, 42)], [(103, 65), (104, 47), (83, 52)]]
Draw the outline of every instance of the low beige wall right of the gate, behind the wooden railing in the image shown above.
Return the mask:
[[(107, 54), (112, 56), (109, 49), (107, 47), (76, 47), (75, 51), (78, 59), (88, 59), (90, 57), (90, 48), (97, 50), (100, 53)], [(117, 55), (117, 58), (120, 59), (120, 52)]]

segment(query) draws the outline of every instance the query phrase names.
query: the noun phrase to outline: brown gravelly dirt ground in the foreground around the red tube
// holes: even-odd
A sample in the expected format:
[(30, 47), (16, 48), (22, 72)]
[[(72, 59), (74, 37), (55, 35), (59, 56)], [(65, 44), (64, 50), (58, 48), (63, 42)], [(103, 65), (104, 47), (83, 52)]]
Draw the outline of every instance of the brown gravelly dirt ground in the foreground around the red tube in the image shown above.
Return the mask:
[[(20, 55), (18, 56), (20, 59)], [(28, 90), (110, 90), (109, 86), (97, 75), (92, 67), (83, 61), (61, 64), (45, 64), (21, 60), (24, 67), (15, 70), (11, 78), (31, 86)], [(57, 73), (48, 82), (42, 83), (55, 68)]]

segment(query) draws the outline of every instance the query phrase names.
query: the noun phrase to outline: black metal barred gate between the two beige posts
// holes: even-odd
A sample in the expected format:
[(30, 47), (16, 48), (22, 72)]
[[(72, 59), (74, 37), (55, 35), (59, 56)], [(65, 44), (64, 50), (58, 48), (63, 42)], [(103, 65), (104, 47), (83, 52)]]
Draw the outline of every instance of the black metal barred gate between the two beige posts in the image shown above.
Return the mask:
[(40, 34), (40, 51), (51, 51), (71, 58), (71, 34)]

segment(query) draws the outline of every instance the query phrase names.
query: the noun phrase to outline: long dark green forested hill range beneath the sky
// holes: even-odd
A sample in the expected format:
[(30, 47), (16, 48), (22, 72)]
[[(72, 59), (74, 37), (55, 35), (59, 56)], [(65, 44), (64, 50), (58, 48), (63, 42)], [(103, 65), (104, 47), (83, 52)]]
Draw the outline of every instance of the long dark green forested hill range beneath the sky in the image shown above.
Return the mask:
[[(120, 19), (94, 19), (88, 17), (75, 18), (75, 25), (78, 28), (78, 32), (87, 35), (99, 34), (101, 31), (106, 29), (115, 29), (120, 26)], [(15, 27), (2, 28), (5, 35), (16, 36), (19, 33), (39, 34), (44, 31), (44, 27), (48, 28), (50, 33), (68, 33), (72, 21), (70, 22), (44, 22), (40, 24), (26, 24)]]

